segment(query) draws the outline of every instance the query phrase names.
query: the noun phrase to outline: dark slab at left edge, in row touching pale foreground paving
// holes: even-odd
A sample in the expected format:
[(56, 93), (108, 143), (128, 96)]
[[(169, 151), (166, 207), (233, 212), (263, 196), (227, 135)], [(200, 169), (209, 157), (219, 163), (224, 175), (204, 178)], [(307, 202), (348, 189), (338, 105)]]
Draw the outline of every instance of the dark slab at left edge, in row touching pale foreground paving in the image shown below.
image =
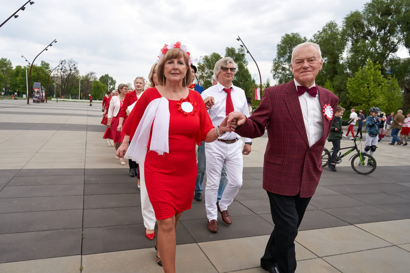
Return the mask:
[(0, 263), (80, 255), (81, 231), (69, 229), (0, 234)]

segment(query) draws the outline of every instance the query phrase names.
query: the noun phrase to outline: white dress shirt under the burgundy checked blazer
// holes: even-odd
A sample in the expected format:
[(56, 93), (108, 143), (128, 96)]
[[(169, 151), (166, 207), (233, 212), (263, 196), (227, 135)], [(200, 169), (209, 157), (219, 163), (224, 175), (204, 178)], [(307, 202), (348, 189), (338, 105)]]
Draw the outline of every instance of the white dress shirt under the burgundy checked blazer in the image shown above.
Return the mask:
[[(293, 78), (293, 80), (296, 88), (301, 86), (296, 79)], [(316, 86), (316, 84), (313, 83), (312, 86)], [(309, 147), (311, 147), (323, 136), (323, 113), (322, 107), (320, 106), (319, 91), (316, 98), (313, 98), (308, 92), (305, 92), (303, 95), (299, 96), (299, 103), (300, 108), (302, 109), (306, 134), (308, 135)]]

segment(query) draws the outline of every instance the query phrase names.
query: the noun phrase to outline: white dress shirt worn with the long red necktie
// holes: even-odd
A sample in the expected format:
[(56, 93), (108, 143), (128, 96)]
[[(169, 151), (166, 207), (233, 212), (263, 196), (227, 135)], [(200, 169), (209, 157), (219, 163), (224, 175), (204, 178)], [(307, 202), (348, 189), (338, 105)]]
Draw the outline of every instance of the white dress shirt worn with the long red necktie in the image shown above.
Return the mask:
[[(227, 93), (224, 91), (225, 86), (219, 82), (204, 92), (201, 93), (202, 98), (213, 97), (215, 98), (215, 105), (208, 110), (209, 117), (212, 120), (213, 126), (218, 126), (226, 117), (226, 97)], [(231, 98), (233, 103), (233, 109), (235, 111), (241, 112), (246, 117), (249, 117), (249, 109), (246, 101), (245, 91), (235, 85), (231, 85)], [(235, 132), (226, 132), (220, 139), (235, 139), (240, 138)], [(245, 142), (251, 142), (252, 139), (244, 137)]]

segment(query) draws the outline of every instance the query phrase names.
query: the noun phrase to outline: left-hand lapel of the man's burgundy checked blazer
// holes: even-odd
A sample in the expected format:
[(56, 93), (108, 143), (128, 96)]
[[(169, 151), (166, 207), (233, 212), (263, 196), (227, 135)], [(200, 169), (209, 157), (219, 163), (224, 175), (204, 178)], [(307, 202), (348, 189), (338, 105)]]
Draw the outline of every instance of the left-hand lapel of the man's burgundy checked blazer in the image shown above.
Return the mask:
[(298, 130), (299, 134), (309, 146), (308, 135), (306, 133), (305, 123), (303, 122), (302, 109), (300, 108), (299, 97), (296, 91), (294, 81), (290, 81), (285, 85), (285, 103), (289, 115), (293, 120), (293, 124)]

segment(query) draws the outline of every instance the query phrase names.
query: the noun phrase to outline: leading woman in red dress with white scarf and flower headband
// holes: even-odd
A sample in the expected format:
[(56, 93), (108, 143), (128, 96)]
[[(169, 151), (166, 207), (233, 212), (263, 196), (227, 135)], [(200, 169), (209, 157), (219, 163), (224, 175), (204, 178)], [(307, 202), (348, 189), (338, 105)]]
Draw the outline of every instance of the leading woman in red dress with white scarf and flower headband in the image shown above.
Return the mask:
[(124, 124), (117, 155), (124, 156), (129, 150), (127, 156), (143, 162), (158, 223), (157, 252), (164, 272), (175, 273), (175, 227), (182, 213), (191, 208), (197, 176), (195, 144), (214, 141), (231, 129), (226, 127), (226, 118), (215, 129), (201, 95), (186, 87), (192, 81), (186, 47), (180, 42), (164, 46), (160, 58), (160, 85), (147, 89), (137, 101)]

